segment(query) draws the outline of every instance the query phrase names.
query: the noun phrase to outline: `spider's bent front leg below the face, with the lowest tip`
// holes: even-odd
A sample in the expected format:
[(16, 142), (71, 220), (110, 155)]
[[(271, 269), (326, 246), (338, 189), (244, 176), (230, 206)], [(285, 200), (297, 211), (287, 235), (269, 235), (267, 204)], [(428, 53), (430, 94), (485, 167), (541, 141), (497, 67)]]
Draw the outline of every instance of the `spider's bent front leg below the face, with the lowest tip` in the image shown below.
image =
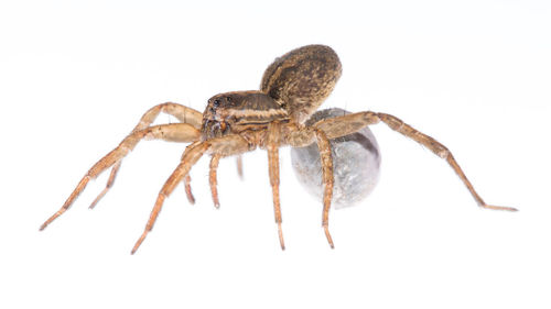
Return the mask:
[(159, 192), (153, 210), (151, 211), (148, 223), (145, 224), (145, 229), (143, 230), (143, 233), (132, 247), (131, 254), (136, 253), (136, 251), (140, 247), (141, 243), (143, 242), (148, 233), (151, 232), (151, 230), (153, 229), (156, 218), (159, 217), (159, 212), (163, 207), (164, 199), (172, 194), (175, 186), (180, 181), (182, 181), (182, 178), (184, 178), (187, 175), (187, 173), (190, 173), (192, 166), (206, 152), (213, 154), (219, 154), (222, 156), (228, 156), (234, 154), (240, 154), (250, 150), (251, 147), (249, 143), (239, 135), (227, 135), (223, 137), (208, 140), (205, 142), (195, 142), (188, 145), (185, 148), (184, 155), (182, 156), (182, 161), (180, 162), (179, 166), (176, 167), (176, 169), (174, 169), (174, 172), (164, 183), (161, 191)]

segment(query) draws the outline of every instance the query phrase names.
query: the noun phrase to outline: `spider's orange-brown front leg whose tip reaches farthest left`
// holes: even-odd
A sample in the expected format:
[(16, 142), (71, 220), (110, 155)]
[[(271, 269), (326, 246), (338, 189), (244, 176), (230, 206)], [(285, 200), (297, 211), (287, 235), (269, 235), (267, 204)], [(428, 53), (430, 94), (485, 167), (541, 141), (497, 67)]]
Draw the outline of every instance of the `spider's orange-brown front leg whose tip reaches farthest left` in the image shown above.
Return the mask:
[[(44, 230), (52, 221), (54, 221), (57, 217), (62, 216), (75, 201), (78, 195), (85, 189), (86, 185), (90, 179), (96, 178), (104, 170), (114, 166), (114, 169), (117, 170), (120, 166), (120, 161), (136, 146), (136, 144), (142, 139), (159, 139), (171, 142), (192, 142), (199, 137), (201, 132), (193, 128), (187, 123), (173, 123), (173, 124), (161, 124), (149, 126), (144, 130), (137, 131), (130, 133), (122, 142), (112, 150), (110, 153), (105, 155), (100, 161), (98, 161), (86, 175), (80, 179), (76, 188), (73, 190), (71, 196), (67, 198), (65, 203), (55, 212), (50, 219), (47, 219), (40, 228), (40, 230)], [(112, 185), (112, 180), (115, 179), (116, 172), (111, 172), (109, 176), (108, 185), (106, 189), (108, 189)], [(99, 198), (105, 195), (105, 192), (100, 194)], [(96, 198), (98, 199), (98, 198)], [(97, 202), (97, 201), (95, 201)], [(94, 203), (93, 203), (94, 205)]]

